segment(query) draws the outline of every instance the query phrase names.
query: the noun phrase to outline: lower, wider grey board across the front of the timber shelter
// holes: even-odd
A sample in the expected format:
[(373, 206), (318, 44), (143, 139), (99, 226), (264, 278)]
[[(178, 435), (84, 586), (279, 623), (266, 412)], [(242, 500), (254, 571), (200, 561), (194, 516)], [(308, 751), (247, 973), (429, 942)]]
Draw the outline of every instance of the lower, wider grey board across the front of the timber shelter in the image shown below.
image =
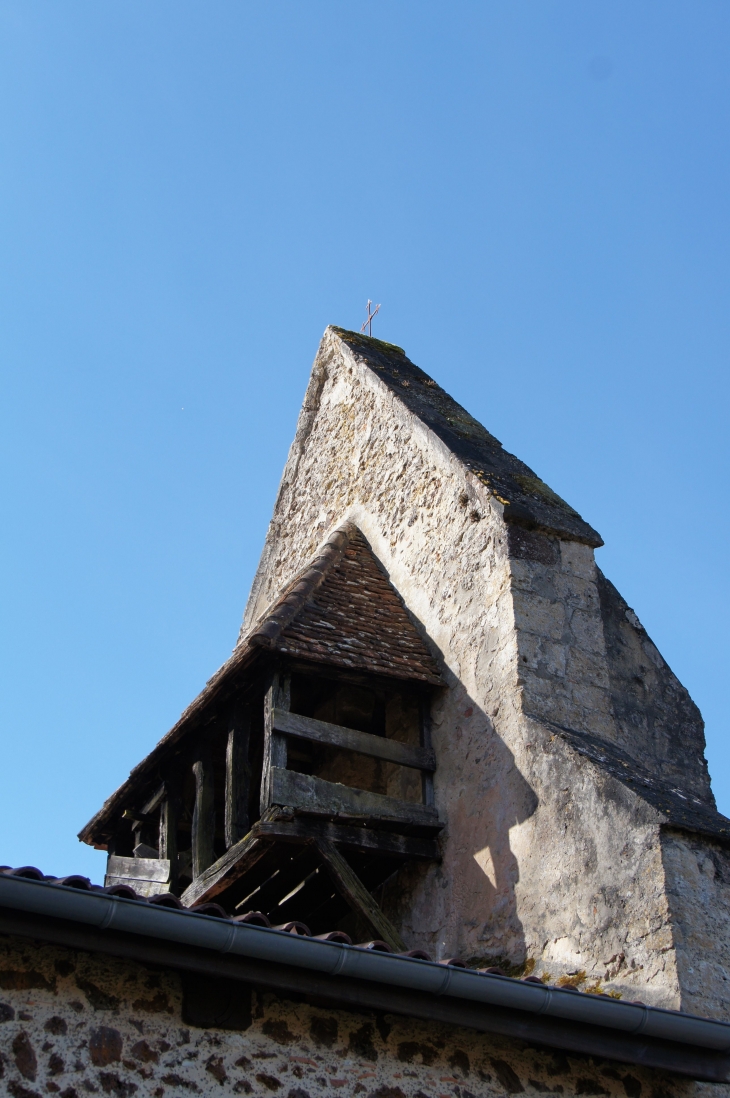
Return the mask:
[(325, 782), (311, 774), (296, 774), (278, 766), (271, 768), (271, 803), (313, 816), (388, 820), (433, 830), (440, 830), (442, 827), (436, 809), (429, 805), (413, 805), (407, 800), (352, 789), (338, 782)]

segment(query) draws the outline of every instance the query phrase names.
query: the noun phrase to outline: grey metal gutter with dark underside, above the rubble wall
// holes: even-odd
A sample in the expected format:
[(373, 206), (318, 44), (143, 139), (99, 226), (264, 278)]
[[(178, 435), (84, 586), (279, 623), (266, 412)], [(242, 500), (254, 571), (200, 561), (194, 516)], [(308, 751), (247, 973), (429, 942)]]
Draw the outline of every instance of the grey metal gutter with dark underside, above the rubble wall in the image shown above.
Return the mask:
[[(418, 993), (439, 1002), (438, 1015), (441, 1018), (443, 1008), (448, 1004), (457, 1007), (456, 1000), (459, 1000), (461, 1008), (472, 1004), (518, 1011), (534, 1017), (536, 1023), (552, 1019), (553, 1026), (562, 1021), (571, 1026), (577, 1023), (581, 1028), (595, 1027), (604, 1032), (613, 1031), (615, 1037), (611, 1042), (625, 1034), (632, 1039), (632, 1046), (637, 1046), (637, 1040), (649, 1044), (667, 1042), (667, 1047), (685, 1045), (687, 1053), (695, 1050), (700, 1055), (709, 1054), (712, 1062), (717, 1061), (717, 1067), (710, 1069), (709, 1074), (697, 1067), (683, 1074), (692, 1074), (695, 1078), (711, 1078), (714, 1082), (728, 1077), (730, 1063), (726, 1057), (730, 1053), (730, 1024), (680, 1011), (622, 1002), (430, 961), (371, 952), (352, 945), (240, 925), (194, 911), (109, 896), (103, 892), (85, 892), (22, 877), (0, 876), (0, 908), (93, 927), (98, 931), (108, 932), (110, 944), (115, 935), (138, 935), (147, 941), (155, 939), (191, 950), (209, 951), (217, 957), (251, 959), (259, 966), (261, 963), (265, 967), (266, 964), (283, 965), (336, 977), (335, 981), (329, 979), (329, 984), (339, 985), (340, 982), (352, 981), (364, 986), (367, 982), (394, 990)], [(103, 941), (104, 934), (96, 937)], [(212, 967), (215, 968), (216, 965), (213, 964)], [(419, 1011), (419, 1016), (423, 1017), (423, 1011)], [(656, 1064), (655, 1058), (647, 1061), (645, 1055), (632, 1054), (626, 1058)], [(670, 1064), (664, 1066), (670, 1067)], [(676, 1066), (670, 1069), (682, 1071)]]

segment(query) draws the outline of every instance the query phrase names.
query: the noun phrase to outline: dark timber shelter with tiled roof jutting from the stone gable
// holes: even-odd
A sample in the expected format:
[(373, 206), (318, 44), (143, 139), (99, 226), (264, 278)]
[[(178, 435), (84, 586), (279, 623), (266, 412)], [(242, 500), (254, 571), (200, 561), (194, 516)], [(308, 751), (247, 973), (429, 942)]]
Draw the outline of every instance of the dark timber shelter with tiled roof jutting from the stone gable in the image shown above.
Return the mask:
[[(336, 531), (314, 564), (186, 735), (167, 737), (86, 831), (106, 840), (108, 885), (403, 952), (377, 897), (405, 862), (438, 860), (428, 713), (440, 676), (358, 530)], [(374, 621), (351, 592), (339, 597), (353, 578)], [(353, 630), (378, 660), (366, 650), (342, 665)], [(383, 673), (383, 636), (397, 676)]]

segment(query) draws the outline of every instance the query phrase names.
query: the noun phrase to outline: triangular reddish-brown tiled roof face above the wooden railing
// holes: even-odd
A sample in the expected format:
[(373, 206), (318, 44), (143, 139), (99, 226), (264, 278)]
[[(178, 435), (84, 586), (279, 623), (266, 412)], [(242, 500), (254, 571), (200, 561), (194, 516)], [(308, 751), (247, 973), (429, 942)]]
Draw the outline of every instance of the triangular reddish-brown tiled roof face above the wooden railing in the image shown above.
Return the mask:
[(335, 530), (248, 640), (371, 674), (442, 682), (403, 600), (352, 523)]

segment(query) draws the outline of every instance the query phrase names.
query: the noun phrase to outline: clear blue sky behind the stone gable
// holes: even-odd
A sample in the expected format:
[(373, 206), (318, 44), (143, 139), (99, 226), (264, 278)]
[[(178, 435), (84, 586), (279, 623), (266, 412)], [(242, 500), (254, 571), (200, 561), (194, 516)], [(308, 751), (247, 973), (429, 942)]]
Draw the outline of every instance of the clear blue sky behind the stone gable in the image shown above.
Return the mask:
[(0, 0), (0, 862), (229, 653), (318, 339), (603, 535), (728, 742), (727, 0)]

